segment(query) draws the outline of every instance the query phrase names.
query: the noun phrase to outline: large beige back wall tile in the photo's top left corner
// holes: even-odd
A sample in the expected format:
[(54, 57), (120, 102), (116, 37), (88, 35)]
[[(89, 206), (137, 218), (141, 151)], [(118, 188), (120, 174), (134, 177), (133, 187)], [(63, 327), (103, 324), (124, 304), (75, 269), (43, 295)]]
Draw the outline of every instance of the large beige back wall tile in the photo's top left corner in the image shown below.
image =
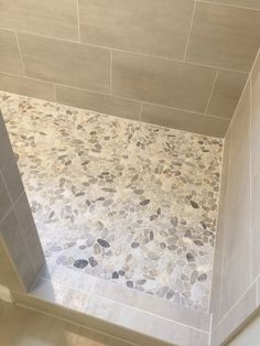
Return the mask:
[(76, 0), (0, 0), (1, 28), (78, 41)]

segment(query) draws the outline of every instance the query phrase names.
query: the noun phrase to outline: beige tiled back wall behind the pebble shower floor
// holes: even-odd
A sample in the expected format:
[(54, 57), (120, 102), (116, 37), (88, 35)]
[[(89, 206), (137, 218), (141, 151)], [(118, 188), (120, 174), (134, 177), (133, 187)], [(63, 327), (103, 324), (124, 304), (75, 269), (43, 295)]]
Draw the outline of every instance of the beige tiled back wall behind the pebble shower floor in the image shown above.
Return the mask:
[(0, 89), (223, 137), (258, 0), (0, 0)]

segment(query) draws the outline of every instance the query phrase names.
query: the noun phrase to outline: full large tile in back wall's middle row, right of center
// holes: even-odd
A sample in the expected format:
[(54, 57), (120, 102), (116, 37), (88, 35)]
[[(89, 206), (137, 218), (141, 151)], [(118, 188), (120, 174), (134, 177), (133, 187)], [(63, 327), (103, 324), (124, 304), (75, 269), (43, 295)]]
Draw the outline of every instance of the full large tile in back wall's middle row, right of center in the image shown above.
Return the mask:
[(204, 111), (216, 71), (176, 61), (113, 52), (112, 95)]

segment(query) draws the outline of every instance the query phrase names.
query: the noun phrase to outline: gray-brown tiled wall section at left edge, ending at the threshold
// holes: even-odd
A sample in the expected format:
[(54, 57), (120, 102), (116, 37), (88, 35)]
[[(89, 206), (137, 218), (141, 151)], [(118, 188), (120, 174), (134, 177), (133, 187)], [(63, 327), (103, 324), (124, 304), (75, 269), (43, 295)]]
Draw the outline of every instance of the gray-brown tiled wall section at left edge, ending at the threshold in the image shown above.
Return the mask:
[(0, 112), (0, 284), (26, 291), (44, 255)]

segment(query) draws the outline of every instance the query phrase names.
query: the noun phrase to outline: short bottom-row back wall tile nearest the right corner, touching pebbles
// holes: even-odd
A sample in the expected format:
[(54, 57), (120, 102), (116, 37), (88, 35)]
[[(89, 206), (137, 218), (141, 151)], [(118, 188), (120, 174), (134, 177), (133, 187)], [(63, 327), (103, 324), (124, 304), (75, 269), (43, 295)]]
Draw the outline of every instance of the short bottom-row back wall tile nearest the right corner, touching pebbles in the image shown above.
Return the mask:
[(229, 125), (226, 119), (150, 104), (143, 104), (141, 120), (213, 137), (224, 137)]

